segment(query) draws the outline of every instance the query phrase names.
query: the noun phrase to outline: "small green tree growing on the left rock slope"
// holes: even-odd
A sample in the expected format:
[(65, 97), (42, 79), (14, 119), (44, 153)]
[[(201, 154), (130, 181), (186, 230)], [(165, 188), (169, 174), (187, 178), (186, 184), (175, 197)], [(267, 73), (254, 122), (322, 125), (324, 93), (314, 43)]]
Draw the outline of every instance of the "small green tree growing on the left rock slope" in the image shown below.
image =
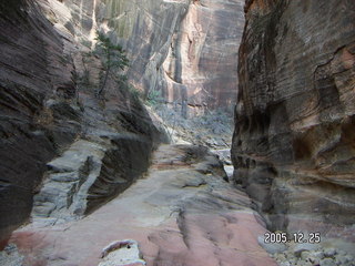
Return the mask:
[(109, 37), (103, 32), (98, 31), (98, 41), (95, 53), (100, 55), (103, 66), (103, 76), (101, 80), (100, 89), (98, 91), (98, 96), (102, 94), (106, 86), (109, 75), (124, 70), (129, 65), (129, 60), (125, 57), (125, 51), (120, 44), (113, 44)]

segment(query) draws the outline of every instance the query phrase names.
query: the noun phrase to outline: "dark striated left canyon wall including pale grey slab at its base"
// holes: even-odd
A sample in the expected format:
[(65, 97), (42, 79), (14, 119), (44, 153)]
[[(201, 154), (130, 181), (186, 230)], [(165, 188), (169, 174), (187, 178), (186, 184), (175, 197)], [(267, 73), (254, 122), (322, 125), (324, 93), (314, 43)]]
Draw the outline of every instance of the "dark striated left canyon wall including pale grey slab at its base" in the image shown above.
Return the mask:
[(79, 86), (82, 48), (55, 22), (68, 10), (39, 3), (0, 4), (0, 244), (32, 205), (33, 218), (59, 221), (112, 198), (162, 140), (126, 88), (111, 82), (98, 99), (93, 86)]

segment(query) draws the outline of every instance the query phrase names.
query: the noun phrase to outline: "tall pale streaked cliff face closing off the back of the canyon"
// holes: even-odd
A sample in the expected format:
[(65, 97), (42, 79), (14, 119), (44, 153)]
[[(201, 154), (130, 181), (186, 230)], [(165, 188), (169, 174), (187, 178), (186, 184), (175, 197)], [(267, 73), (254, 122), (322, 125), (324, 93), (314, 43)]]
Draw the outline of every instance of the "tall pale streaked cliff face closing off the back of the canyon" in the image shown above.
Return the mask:
[(234, 104), (243, 4), (243, 0), (64, 0), (70, 14), (58, 20), (88, 47), (95, 29), (109, 32), (129, 53), (130, 82), (146, 94), (160, 91), (187, 115)]

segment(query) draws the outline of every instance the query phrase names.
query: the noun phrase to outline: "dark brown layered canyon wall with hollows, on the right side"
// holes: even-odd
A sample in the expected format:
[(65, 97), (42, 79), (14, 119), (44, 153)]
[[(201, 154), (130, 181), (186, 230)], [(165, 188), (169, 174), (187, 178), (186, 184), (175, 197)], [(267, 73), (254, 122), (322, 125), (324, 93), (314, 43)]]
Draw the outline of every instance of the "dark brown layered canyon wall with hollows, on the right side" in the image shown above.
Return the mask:
[(354, 237), (355, 2), (247, 1), (232, 157), (272, 228)]

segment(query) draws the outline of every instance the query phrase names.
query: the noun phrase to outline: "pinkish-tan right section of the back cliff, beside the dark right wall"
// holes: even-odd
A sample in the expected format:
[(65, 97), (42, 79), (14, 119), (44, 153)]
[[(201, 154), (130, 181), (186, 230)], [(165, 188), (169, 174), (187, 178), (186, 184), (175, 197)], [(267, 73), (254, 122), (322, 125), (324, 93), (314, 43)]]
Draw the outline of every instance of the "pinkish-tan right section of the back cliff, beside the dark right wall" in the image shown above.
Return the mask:
[[(186, 88), (189, 111), (232, 106), (236, 98), (237, 49), (244, 18), (243, 1), (192, 1), (173, 35), (163, 64), (162, 88), (170, 102)], [(164, 88), (168, 86), (168, 90)], [(184, 96), (184, 95), (182, 95)]]

